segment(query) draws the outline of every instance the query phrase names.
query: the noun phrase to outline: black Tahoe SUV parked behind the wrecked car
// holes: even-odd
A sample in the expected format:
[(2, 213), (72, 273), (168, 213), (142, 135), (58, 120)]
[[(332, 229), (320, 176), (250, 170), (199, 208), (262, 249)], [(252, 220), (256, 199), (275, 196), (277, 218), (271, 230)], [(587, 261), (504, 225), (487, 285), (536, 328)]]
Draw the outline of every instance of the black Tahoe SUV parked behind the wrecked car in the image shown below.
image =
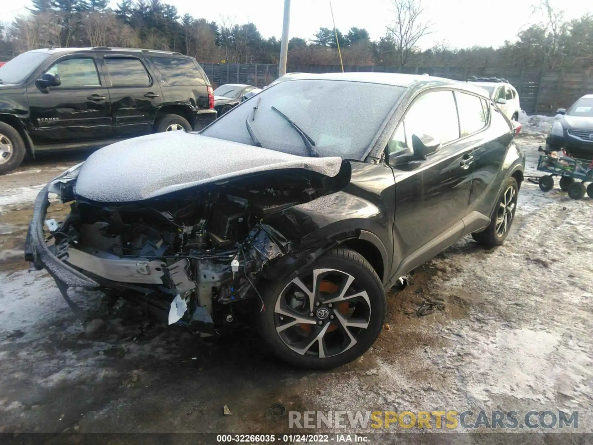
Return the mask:
[(0, 173), (25, 154), (98, 148), (216, 119), (212, 87), (180, 53), (37, 49), (0, 67)]

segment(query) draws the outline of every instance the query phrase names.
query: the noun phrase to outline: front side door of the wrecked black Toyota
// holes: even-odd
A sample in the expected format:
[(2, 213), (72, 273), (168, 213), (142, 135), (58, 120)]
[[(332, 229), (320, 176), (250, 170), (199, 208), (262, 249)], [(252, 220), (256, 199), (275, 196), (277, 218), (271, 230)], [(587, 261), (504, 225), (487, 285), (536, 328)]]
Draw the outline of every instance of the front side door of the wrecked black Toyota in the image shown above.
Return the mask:
[[(413, 154), (412, 135), (430, 135), (442, 145), (425, 160), (399, 164), (400, 155)], [(409, 271), (442, 250), (433, 246), (420, 252), (427, 243), (444, 234), (451, 243), (461, 236), (460, 221), (467, 214), (470, 196), (472, 150), (460, 143), (453, 91), (429, 91), (415, 98), (386, 149), (396, 180), (394, 237), (401, 248), (394, 264), (407, 262)]]

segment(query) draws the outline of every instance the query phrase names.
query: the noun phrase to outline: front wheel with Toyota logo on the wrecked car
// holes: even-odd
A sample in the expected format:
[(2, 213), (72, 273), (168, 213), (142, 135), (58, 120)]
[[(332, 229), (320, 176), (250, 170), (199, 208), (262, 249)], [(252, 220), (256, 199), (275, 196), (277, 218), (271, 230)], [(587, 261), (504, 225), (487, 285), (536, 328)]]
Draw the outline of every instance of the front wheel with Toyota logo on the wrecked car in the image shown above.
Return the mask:
[(280, 359), (304, 368), (349, 363), (371, 347), (387, 307), (377, 273), (349, 249), (327, 252), (264, 293), (259, 330)]

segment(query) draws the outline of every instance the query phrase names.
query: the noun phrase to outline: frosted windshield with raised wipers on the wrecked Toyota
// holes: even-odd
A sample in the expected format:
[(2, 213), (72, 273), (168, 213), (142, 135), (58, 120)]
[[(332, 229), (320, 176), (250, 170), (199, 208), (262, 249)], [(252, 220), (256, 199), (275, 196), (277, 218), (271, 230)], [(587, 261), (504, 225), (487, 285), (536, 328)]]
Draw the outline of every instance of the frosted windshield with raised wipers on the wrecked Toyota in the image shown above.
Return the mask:
[[(253, 145), (246, 126), (264, 148), (299, 156), (310, 151), (291, 122), (315, 142), (321, 157), (362, 160), (405, 88), (336, 80), (280, 82), (219, 117), (202, 134)], [(257, 113), (252, 117), (253, 107)]]

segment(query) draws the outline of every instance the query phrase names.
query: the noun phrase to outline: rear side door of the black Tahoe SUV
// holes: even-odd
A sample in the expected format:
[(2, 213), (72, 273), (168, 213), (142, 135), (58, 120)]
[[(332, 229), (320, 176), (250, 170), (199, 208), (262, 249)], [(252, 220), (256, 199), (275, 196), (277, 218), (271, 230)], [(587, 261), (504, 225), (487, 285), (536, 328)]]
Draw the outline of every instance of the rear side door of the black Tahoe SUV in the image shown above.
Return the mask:
[(106, 54), (103, 63), (116, 136), (131, 138), (152, 133), (162, 103), (161, 87), (144, 61), (133, 55)]

